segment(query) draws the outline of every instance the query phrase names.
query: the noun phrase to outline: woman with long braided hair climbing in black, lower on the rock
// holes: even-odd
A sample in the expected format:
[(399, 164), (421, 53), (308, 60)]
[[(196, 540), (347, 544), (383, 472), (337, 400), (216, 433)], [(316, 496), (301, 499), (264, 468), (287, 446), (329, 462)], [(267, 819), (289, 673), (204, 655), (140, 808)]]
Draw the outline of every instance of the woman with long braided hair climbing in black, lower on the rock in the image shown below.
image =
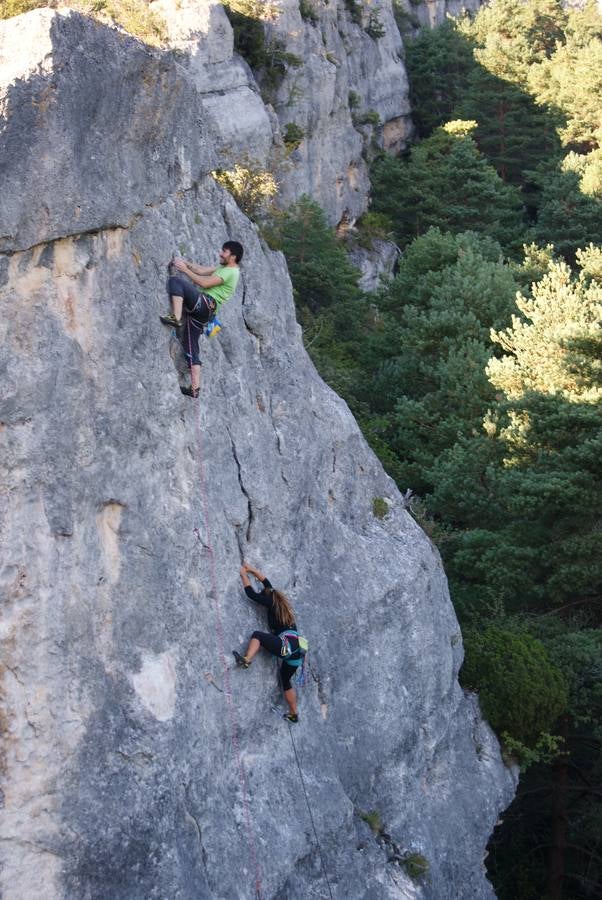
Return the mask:
[[(257, 581), (263, 584), (262, 591), (254, 591), (249, 581), (249, 574), (254, 575)], [(233, 650), (237, 665), (248, 669), (253, 657), (260, 647), (267, 650), (273, 656), (282, 660), (280, 666), (280, 678), (284, 699), (288, 703), (289, 712), (284, 717), (289, 722), (298, 722), (297, 695), (291, 686), (291, 678), (295, 675), (297, 667), (303, 663), (303, 657), (307, 650), (307, 641), (297, 632), (295, 614), (290, 601), (281, 591), (276, 591), (268, 579), (253, 566), (243, 563), (240, 569), (240, 577), (245, 589), (245, 594), (250, 600), (265, 606), (268, 611), (268, 626), (271, 634), (265, 631), (254, 631), (244, 656)]]

